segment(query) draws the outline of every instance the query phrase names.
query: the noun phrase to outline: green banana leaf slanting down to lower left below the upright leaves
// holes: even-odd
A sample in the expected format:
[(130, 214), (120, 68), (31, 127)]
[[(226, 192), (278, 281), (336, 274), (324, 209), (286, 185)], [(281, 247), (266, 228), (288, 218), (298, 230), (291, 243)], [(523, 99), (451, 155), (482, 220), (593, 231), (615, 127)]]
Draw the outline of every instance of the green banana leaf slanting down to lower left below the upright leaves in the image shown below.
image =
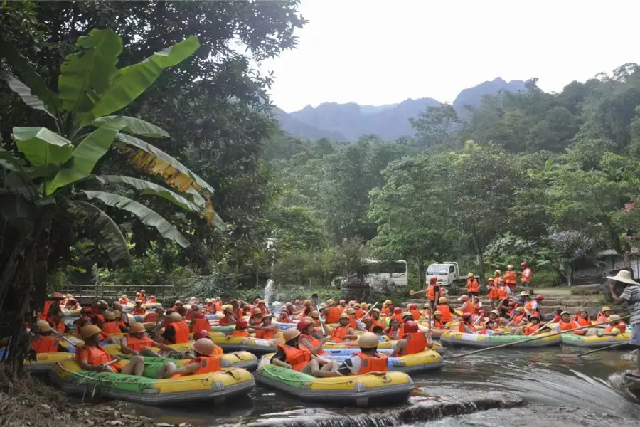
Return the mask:
[(122, 120), (122, 117), (116, 116), (82, 139), (73, 150), (70, 164), (60, 169), (60, 172), (47, 183), (45, 194), (53, 194), (53, 191), (60, 187), (90, 176), (97, 161), (107, 153), (114, 137), (126, 125), (127, 122)]

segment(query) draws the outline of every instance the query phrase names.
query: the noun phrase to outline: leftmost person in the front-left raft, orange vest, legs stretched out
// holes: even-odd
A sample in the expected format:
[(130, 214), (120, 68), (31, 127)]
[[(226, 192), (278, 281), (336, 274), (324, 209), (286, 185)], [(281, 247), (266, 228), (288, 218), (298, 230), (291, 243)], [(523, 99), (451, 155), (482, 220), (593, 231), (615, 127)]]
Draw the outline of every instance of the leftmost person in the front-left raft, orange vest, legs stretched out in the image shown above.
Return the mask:
[(80, 330), (85, 345), (75, 350), (75, 360), (85, 371), (116, 372), (119, 374), (141, 376), (144, 371), (142, 356), (133, 356), (124, 367), (114, 364), (119, 359), (100, 347), (102, 330), (97, 325), (87, 325)]

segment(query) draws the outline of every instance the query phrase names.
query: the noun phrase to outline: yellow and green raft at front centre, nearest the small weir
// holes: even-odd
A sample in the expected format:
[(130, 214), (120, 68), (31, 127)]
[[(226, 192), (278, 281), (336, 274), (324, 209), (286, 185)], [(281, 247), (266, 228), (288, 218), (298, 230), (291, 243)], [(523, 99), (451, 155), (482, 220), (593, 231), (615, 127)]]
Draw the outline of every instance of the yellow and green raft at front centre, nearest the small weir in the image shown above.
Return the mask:
[(396, 404), (407, 401), (413, 391), (412, 379), (403, 372), (316, 378), (293, 369), (277, 367), (270, 363), (270, 357), (261, 359), (254, 375), (260, 384), (314, 404)]

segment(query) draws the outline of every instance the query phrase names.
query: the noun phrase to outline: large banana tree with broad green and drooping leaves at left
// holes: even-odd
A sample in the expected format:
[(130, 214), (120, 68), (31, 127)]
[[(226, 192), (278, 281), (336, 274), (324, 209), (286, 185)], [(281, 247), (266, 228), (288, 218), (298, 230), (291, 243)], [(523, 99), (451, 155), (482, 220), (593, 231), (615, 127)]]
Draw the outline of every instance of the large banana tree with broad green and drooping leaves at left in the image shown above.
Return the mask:
[[(188, 239), (156, 211), (122, 191), (100, 186), (160, 197), (186, 215), (200, 216), (213, 226), (225, 228), (213, 211), (213, 188), (144, 140), (166, 138), (169, 133), (138, 117), (117, 115), (164, 69), (178, 65), (198, 47), (198, 39), (191, 36), (141, 63), (117, 68), (122, 39), (108, 29), (93, 30), (78, 38), (78, 53), (65, 58), (55, 93), (14, 46), (0, 46), (0, 59), (4, 56), (21, 80), (14, 75), (2, 78), (48, 120), (45, 127), (14, 127), (11, 137), (20, 156), (0, 148), (0, 219), (4, 221), (0, 312), (9, 302), (8, 295), (15, 300), (13, 307), (21, 307), (21, 317), (33, 309), (38, 297), (43, 297), (47, 239), (52, 233), (51, 224), (60, 216), (85, 221), (90, 218), (97, 242), (117, 265), (130, 263), (129, 249), (119, 226), (103, 210), (105, 205), (128, 211), (163, 238), (182, 247), (189, 245)], [(124, 153), (134, 167), (156, 176), (156, 180), (161, 177), (166, 186), (132, 176), (93, 174), (97, 162), (112, 150)], [(28, 297), (22, 298), (24, 295)], [(18, 337), (19, 328), (10, 332)]]

